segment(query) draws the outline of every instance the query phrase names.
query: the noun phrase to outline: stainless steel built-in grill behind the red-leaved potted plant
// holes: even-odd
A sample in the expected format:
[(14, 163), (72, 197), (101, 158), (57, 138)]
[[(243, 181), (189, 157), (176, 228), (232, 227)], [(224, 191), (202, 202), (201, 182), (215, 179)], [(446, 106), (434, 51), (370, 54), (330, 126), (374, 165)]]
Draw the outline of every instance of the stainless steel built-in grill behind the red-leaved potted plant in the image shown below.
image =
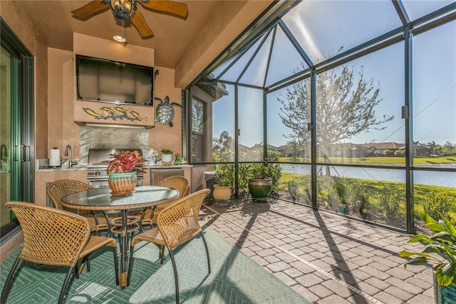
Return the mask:
[[(103, 163), (103, 161), (109, 161), (110, 154), (121, 153), (122, 151), (135, 151), (138, 150), (140, 156), (142, 156), (141, 149), (138, 148), (92, 148), (88, 151), (88, 161), (87, 161), (87, 180), (88, 184), (93, 188), (105, 188), (109, 187), (108, 185), (108, 173), (106, 169), (108, 168), (108, 163)], [(140, 168), (135, 169), (137, 185), (142, 186), (142, 170)]]

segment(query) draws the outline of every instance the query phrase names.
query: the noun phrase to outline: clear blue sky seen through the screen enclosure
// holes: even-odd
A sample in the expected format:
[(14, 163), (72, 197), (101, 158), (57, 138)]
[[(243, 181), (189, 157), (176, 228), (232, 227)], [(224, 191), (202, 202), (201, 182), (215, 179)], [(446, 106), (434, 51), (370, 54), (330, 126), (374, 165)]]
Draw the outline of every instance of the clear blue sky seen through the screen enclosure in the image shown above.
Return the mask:
[[(410, 19), (416, 19), (452, 1), (404, 1)], [(366, 13), (368, 12), (368, 13)], [(370, 13), (369, 13), (370, 12)], [(326, 22), (321, 22), (325, 20)], [(284, 17), (296, 40), (314, 62), (322, 61), (337, 54), (337, 49), (351, 49), (353, 46), (373, 39), (400, 26), (400, 20), (391, 1), (304, 1)], [(279, 43), (274, 44), (271, 66), (266, 83), (276, 81), (278, 75), (290, 75), (296, 64), (296, 50), (284, 43), (284, 35), (278, 31)], [(315, 39), (314, 37), (318, 37)], [(456, 143), (456, 21), (413, 37), (413, 140), (420, 143)], [(266, 41), (267, 42), (267, 41)], [(266, 45), (266, 43), (264, 44)], [(351, 143), (405, 141), (404, 120), (401, 106), (405, 102), (404, 92), (404, 42), (375, 51), (360, 59), (350, 61), (348, 66), (355, 71), (363, 69), (366, 79), (372, 78), (380, 86), (382, 101), (375, 108), (376, 115), (395, 116), (385, 124), (383, 131), (369, 131), (348, 140)], [(258, 55), (267, 54), (266, 46)], [(253, 54), (253, 50), (248, 54)], [(286, 54), (286, 56), (284, 56)], [(247, 56), (250, 58), (250, 56)], [(262, 83), (266, 71), (266, 56), (257, 56), (252, 61), (255, 68), (249, 69), (242, 80), (252, 79), (252, 84)], [(240, 61), (223, 78), (234, 80), (247, 59)], [(220, 69), (219, 71), (221, 71)], [(217, 70), (216, 73), (217, 75)], [(271, 81), (270, 79), (274, 79)], [(229, 96), (214, 102), (213, 136), (228, 130), (234, 134), (234, 89), (228, 87)], [(277, 117), (279, 103), (285, 90), (268, 95), (269, 118), (268, 143), (274, 146), (286, 144), (284, 134), (289, 131)], [(239, 143), (253, 146), (262, 142), (261, 120), (262, 94), (254, 89), (239, 91)], [(271, 120), (273, 123), (271, 123)], [(307, 122), (303, 122), (307, 123)], [(260, 124), (261, 126), (262, 124)], [(346, 141), (346, 142), (348, 142)]]

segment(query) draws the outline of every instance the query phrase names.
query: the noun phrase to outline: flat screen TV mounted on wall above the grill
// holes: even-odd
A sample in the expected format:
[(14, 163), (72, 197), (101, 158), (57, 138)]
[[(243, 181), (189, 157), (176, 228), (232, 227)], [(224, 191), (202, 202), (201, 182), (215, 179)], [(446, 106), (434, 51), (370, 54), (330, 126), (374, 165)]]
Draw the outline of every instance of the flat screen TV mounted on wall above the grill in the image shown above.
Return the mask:
[(76, 55), (78, 100), (152, 106), (153, 68)]

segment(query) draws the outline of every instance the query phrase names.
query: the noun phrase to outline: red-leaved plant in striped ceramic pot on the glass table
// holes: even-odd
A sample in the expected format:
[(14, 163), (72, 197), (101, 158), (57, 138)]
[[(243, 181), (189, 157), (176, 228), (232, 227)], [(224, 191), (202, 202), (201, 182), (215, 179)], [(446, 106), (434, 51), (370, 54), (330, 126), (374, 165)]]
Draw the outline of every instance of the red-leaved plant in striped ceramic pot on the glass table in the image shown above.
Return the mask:
[(108, 184), (113, 196), (124, 196), (133, 193), (136, 186), (135, 168), (142, 167), (142, 156), (138, 150), (133, 152), (122, 151), (121, 153), (110, 154), (110, 161), (106, 172), (108, 173)]

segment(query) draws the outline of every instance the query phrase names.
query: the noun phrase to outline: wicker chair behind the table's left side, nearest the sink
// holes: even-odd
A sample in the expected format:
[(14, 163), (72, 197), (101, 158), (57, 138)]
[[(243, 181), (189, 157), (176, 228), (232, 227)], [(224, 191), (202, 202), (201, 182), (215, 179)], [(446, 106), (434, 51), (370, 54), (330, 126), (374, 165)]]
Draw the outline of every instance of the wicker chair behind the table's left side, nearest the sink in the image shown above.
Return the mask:
[[(77, 213), (80, 216), (87, 218), (88, 223), (90, 224), (91, 232), (98, 233), (98, 231), (101, 230), (108, 230), (108, 222), (106, 221), (105, 213), (99, 214), (99, 216), (97, 216), (95, 212), (90, 213), (90, 211), (63, 208), (61, 204), (60, 200), (63, 198), (63, 196), (68, 196), (68, 194), (73, 194), (79, 191), (86, 191), (89, 189), (93, 189), (93, 187), (87, 183), (82, 183), (81, 181), (60, 180), (51, 183), (48, 186), (46, 192), (48, 193), (49, 198), (51, 198), (51, 201), (53, 201), (54, 206), (56, 206), (57, 209), (63, 209), (72, 213)], [(117, 216), (117, 214), (108, 213), (108, 218), (110, 219)]]

